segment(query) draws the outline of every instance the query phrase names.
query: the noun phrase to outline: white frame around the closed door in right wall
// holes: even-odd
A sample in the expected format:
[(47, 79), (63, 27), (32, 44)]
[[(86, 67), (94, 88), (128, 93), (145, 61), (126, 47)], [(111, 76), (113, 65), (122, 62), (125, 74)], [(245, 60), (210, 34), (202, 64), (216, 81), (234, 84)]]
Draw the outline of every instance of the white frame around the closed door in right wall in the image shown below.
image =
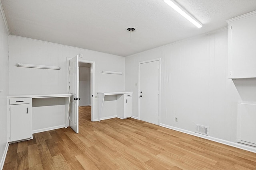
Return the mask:
[(152, 59), (147, 61), (141, 61), (138, 63), (138, 119), (140, 120), (140, 64), (150, 63), (158, 61), (159, 62), (159, 71), (158, 71), (158, 125), (160, 125), (160, 99), (161, 99), (161, 58)]

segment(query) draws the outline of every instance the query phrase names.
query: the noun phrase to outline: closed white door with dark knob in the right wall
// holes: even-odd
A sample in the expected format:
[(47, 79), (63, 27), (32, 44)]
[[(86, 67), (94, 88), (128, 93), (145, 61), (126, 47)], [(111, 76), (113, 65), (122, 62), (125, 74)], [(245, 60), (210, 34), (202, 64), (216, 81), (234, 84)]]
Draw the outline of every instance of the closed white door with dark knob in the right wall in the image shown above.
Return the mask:
[(139, 63), (139, 119), (159, 125), (159, 66), (160, 61)]

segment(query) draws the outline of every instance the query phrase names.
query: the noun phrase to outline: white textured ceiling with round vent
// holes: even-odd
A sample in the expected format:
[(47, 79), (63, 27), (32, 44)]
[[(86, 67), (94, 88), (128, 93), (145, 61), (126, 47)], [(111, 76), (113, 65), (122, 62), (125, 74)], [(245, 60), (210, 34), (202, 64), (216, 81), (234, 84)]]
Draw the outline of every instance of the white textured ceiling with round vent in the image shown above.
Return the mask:
[(1, 2), (12, 35), (120, 56), (226, 27), (226, 20), (256, 10), (256, 0), (177, 0), (202, 23), (197, 28), (162, 0)]

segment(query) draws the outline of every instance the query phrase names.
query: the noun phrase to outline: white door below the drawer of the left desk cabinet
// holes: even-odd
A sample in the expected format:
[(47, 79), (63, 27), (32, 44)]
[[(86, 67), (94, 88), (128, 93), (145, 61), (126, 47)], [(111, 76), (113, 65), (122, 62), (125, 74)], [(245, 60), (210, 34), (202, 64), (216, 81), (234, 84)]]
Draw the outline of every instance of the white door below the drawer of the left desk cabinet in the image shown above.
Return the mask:
[(10, 141), (32, 136), (30, 104), (10, 106)]

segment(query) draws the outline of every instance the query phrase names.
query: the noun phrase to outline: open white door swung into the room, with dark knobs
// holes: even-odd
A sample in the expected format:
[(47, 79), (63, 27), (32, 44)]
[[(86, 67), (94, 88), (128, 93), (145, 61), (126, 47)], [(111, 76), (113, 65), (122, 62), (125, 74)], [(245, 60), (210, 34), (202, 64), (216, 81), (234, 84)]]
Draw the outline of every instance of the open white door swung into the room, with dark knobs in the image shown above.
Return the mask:
[(78, 106), (79, 106), (79, 70), (78, 70), (78, 56), (69, 60), (69, 74), (70, 74), (70, 119), (69, 126), (78, 133)]

